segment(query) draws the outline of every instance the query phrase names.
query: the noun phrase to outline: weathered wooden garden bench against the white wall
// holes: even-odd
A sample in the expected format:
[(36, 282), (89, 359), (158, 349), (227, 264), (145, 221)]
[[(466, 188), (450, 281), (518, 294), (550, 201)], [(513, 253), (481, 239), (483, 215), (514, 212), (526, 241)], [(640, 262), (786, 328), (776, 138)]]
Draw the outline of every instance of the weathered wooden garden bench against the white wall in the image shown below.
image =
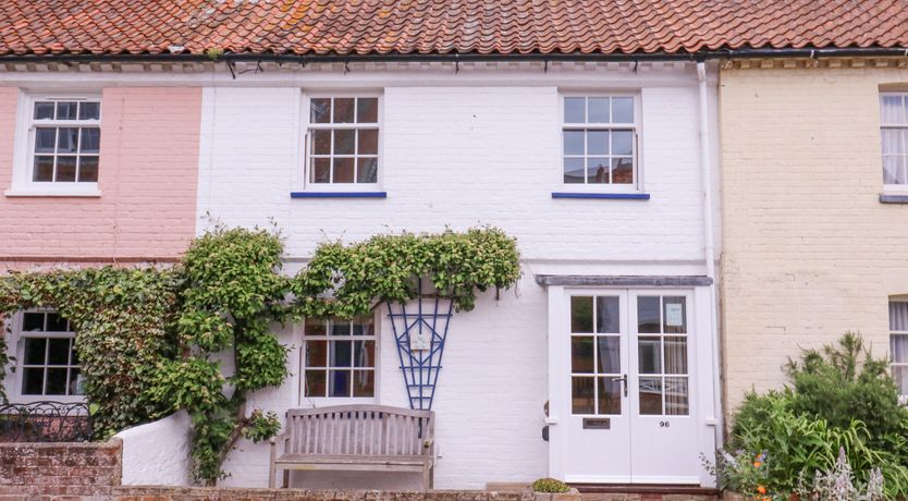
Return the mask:
[[(269, 487), (279, 469), (418, 472), (432, 488), (434, 413), (384, 405), (287, 411), (284, 432), (271, 439)], [(279, 444), (283, 444), (279, 455)]]

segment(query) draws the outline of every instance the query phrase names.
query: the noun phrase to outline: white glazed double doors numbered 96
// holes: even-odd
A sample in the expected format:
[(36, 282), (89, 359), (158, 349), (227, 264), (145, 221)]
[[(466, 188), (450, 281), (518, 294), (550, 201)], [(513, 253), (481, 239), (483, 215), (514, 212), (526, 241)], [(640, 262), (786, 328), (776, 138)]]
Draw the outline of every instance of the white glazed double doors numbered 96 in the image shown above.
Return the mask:
[(699, 482), (692, 294), (565, 291), (553, 342), (563, 354), (553, 405), (564, 478)]

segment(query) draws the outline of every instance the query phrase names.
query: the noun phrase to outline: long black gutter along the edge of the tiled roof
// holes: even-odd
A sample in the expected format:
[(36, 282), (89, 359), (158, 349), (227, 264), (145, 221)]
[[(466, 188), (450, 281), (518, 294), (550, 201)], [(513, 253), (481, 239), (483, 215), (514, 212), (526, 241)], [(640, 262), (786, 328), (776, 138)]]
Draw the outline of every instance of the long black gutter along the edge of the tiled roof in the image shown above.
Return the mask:
[(489, 62), (489, 61), (538, 61), (538, 62), (596, 62), (596, 61), (707, 61), (714, 59), (765, 59), (765, 58), (854, 58), (854, 57), (908, 57), (908, 47), (849, 47), (825, 49), (717, 49), (699, 52), (613, 52), (613, 53), (388, 53), (388, 54), (277, 54), (228, 52), (216, 59), (205, 54), (189, 53), (157, 53), (157, 54), (15, 54), (0, 56), (0, 63), (83, 63), (83, 62), (138, 62), (138, 63), (172, 63), (184, 62), (278, 62), (278, 63), (352, 63), (364, 61), (392, 62)]

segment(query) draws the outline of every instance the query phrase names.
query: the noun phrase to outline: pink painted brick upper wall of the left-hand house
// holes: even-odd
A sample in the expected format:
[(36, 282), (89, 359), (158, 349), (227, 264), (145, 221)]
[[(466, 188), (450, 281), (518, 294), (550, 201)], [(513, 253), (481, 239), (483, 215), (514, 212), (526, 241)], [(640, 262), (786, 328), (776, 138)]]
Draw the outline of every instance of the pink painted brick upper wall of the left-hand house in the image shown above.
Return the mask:
[(174, 258), (195, 232), (199, 88), (107, 88), (101, 196), (8, 197), (17, 89), (0, 87), (0, 261)]

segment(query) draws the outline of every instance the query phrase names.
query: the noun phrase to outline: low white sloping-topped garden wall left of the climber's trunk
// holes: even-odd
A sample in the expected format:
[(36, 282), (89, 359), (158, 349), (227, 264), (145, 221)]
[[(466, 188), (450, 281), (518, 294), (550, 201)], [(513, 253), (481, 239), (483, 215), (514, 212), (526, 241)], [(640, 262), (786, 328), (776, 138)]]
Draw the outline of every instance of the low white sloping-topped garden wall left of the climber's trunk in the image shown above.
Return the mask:
[(185, 411), (115, 437), (123, 441), (124, 486), (192, 485), (192, 428)]

